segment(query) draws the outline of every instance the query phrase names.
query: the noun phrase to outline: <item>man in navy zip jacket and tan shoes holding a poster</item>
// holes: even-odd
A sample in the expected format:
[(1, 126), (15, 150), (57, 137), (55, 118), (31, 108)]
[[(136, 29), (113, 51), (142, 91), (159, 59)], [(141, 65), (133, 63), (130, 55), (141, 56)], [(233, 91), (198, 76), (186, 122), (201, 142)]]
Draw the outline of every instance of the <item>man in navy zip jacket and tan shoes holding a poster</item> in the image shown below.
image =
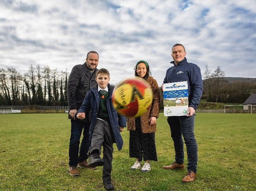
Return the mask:
[[(175, 44), (172, 47), (171, 56), (174, 65), (170, 67), (164, 79), (164, 84), (172, 82), (187, 81), (188, 84), (188, 112), (187, 116), (169, 116), (167, 118), (171, 130), (171, 137), (175, 149), (175, 161), (164, 166), (165, 169), (184, 169), (184, 150), (183, 140), (187, 150), (187, 173), (182, 182), (191, 182), (196, 178), (197, 172), (197, 142), (194, 135), (195, 110), (200, 101), (203, 92), (203, 84), (200, 68), (187, 62), (186, 52), (182, 44)], [(163, 89), (163, 85), (162, 85)]]

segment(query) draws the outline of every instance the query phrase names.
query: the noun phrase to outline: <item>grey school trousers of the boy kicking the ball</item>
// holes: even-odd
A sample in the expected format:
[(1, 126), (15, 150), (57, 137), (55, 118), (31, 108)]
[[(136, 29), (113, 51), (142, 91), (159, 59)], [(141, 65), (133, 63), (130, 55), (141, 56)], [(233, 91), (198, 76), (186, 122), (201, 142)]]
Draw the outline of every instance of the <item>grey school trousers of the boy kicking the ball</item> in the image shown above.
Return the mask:
[(101, 147), (103, 146), (103, 170), (102, 180), (103, 182), (111, 182), (112, 160), (113, 160), (113, 142), (115, 141), (114, 134), (110, 123), (96, 120), (92, 137), (89, 154), (92, 151), (97, 150), (99, 155), (101, 154)]

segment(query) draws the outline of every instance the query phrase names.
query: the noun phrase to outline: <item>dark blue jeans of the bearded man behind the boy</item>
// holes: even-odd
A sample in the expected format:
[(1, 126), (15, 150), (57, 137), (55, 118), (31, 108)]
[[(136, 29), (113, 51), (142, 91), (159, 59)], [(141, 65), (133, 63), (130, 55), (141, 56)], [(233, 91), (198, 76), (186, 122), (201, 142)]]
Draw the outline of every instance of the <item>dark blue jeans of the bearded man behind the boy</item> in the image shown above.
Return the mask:
[[(88, 159), (89, 150), (89, 127), (90, 123), (71, 119), (71, 135), (69, 142), (69, 166), (77, 166), (78, 163)], [(80, 137), (83, 132), (83, 139), (80, 145)], [(79, 156), (78, 156), (79, 152)]]

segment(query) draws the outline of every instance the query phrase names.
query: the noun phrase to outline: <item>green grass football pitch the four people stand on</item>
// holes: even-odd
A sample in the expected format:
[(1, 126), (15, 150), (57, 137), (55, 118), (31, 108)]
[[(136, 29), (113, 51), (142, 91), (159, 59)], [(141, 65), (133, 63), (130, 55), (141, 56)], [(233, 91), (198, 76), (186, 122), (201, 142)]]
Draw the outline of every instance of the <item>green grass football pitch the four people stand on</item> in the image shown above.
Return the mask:
[[(0, 190), (104, 190), (102, 167), (68, 173), (70, 121), (67, 114), (0, 115)], [(256, 115), (196, 115), (197, 179), (182, 183), (186, 170), (165, 170), (174, 160), (166, 117), (157, 119), (158, 162), (148, 173), (132, 171), (129, 132), (124, 147), (114, 145), (112, 180), (115, 190), (256, 190)], [(186, 158), (186, 154), (185, 154)], [(185, 159), (185, 164), (187, 163)]]

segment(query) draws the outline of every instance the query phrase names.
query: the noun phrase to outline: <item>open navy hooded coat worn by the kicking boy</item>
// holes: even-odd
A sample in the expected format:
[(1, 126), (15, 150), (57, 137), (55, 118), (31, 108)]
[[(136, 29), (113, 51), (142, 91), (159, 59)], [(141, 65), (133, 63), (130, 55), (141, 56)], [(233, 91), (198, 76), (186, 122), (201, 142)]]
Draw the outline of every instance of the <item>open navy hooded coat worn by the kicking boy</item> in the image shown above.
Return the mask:
[[(113, 129), (113, 134), (114, 134), (115, 142), (117, 144), (117, 148), (120, 151), (123, 146), (123, 139), (120, 135), (119, 126), (126, 127), (126, 117), (119, 115), (112, 105), (112, 93), (113, 93), (114, 87), (110, 86), (110, 84), (108, 84), (107, 87), (108, 87), (108, 99), (107, 99), (108, 117), (110, 120), (111, 127)], [(89, 130), (90, 142), (91, 142), (92, 132), (98, 117), (99, 105), (100, 105), (100, 96), (99, 96), (98, 85), (97, 85), (96, 88), (92, 87), (90, 89), (90, 91), (87, 93), (84, 99), (84, 102), (81, 108), (77, 111), (77, 113), (85, 112), (85, 114), (88, 115), (91, 109), (91, 125)]]

